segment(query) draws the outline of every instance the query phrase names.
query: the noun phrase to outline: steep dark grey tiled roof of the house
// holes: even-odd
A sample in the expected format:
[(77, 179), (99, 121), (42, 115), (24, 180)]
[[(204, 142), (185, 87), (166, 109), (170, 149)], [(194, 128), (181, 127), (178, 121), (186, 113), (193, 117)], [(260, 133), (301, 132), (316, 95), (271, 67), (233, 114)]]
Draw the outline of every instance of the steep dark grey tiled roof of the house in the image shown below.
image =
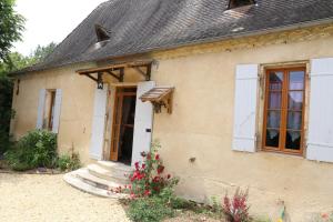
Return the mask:
[[(101, 3), (41, 63), (21, 72), (144, 53), (286, 27), (332, 21), (332, 0), (110, 0)], [(95, 24), (109, 40), (95, 44)]]

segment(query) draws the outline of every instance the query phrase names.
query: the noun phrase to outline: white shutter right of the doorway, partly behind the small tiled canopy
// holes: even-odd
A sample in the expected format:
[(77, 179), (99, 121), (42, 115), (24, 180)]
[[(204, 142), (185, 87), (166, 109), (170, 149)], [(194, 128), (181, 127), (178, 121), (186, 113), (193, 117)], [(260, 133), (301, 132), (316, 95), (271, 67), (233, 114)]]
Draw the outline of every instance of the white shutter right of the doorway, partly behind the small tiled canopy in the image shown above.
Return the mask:
[(153, 81), (140, 82), (138, 84), (132, 164), (142, 160), (140, 155), (142, 151), (150, 151), (153, 123), (153, 108), (151, 102), (142, 102), (140, 100), (140, 97), (144, 92), (148, 92), (149, 90), (154, 88), (154, 85), (155, 82)]

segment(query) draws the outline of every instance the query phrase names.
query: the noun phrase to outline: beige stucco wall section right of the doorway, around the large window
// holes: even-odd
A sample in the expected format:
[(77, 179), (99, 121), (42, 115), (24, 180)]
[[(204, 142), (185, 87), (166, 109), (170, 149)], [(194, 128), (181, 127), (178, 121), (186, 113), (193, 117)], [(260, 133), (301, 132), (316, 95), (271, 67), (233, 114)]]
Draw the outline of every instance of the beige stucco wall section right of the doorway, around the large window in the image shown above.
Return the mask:
[(333, 164), (231, 150), (236, 64), (306, 63), (313, 58), (333, 57), (333, 37), (316, 33), (302, 36), (311, 38), (307, 41), (289, 42), (291, 36), (281, 34), (263, 38), (255, 42), (258, 46), (250, 38), (242, 49), (215, 43), (155, 53), (160, 60), (154, 80), (174, 85), (175, 92), (173, 113), (155, 114), (153, 132), (162, 144), (167, 169), (181, 178), (180, 194), (209, 201), (236, 186), (249, 188), (253, 213), (276, 214), (284, 201), (292, 221), (307, 221), (315, 212), (333, 210)]

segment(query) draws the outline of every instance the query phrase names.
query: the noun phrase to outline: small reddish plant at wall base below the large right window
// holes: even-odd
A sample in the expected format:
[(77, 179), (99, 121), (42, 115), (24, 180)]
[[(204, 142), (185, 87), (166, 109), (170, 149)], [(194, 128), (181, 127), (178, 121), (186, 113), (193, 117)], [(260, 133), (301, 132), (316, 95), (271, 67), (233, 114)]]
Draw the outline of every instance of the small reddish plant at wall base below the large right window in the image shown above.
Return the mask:
[(225, 194), (222, 204), (222, 211), (228, 222), (248, 222), (251, 221), (248, 205), (249, 190), (241, 191), (236, 189), (232, 199)]

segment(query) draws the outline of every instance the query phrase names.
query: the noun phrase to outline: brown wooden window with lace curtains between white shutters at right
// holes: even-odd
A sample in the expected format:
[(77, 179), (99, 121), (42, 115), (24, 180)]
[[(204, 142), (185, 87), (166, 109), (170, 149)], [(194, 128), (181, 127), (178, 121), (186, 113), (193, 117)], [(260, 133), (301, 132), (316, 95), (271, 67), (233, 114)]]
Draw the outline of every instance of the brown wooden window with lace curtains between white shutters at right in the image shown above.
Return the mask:
[(304, 140), (305, 69), (266, 72), (263, 148), (301, 154)]

